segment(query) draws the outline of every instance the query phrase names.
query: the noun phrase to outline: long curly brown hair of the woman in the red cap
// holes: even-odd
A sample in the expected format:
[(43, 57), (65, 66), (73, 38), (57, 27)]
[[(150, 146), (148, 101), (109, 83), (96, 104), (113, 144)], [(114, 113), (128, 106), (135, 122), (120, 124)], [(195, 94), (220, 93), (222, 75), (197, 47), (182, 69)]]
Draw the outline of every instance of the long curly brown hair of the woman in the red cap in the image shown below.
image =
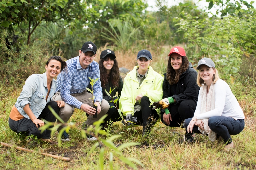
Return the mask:
[(168, 64), (167, 64), (167, 69), (166, 69), (166, 74), (167, 74), (166, 79), (170, 83), (170, 85), (178, 83), (178, 81), (180, 79), (180, 75), (188, 69), (188, 66), (189, 66), (188, 57), (182, 56), (182, 64), (176, 73), (175, 70), (171, 66), (171, 55), (170, 55)]

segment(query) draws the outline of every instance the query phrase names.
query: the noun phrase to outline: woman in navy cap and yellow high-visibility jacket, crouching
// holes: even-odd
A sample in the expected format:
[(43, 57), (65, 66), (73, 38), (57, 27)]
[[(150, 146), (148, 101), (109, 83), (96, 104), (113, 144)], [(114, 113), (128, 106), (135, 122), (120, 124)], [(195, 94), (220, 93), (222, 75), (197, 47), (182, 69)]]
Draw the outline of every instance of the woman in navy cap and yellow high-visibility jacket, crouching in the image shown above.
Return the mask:
[(126, 75), (120, 96), (120, 109), (126, 121), (122, 123), (127, 127), (132, 125), (131, 122), (143, 126), (143, 136), (159, 119), (160, 110), (151, 110), (151, 105), (163, 96), (163, 77), (149, 66), (151, 62), (152, 56), (148, 50), (138, 52), (138, 66)]

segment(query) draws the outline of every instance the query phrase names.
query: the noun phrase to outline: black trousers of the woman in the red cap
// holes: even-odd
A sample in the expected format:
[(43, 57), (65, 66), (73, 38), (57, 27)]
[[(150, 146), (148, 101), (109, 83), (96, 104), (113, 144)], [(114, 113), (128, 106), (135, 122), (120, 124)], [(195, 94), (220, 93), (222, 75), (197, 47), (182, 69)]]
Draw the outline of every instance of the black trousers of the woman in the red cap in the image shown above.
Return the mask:
[[(172, 121), (167, 125), (163, 120), (163, 114), (161, 114), (161, 121), (170, 127), (183, 128), (183, 122), (185, 119), (192, 118), (196, 109), (196, 102), (194, 100), (183, 100), (180, 104), (170, 104), (168, 110), (170, 111)], [(165, 114), (165, 113), (164, 113)]]

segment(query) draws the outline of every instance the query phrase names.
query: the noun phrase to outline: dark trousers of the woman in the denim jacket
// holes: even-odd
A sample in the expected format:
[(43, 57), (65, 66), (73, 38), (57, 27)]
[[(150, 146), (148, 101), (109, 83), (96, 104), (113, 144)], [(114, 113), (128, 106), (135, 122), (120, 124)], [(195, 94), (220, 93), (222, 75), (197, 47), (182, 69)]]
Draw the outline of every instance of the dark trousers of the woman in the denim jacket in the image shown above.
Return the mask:
[[(57, 102), (51, 101), (46, 104), (45, 108), (39, 115), (37, 119), (45, 119), (48, 122), (55, 122), (56, 118), (52, 114), (52, 112), (48, 109), (48, 106), (51, 106), (54, 111), (58, 114), (60, 111), (60, 108), (58, 107)], [(12, 131), (19, 133), (19, 132), (24, 132), (26, 136), (34, 135), (37, 136), (38, 139), (43, 138), (43, 139), (50, 139), (51, 138), (51, 131), (50, 130), (44, 130), (41, 133), (41, 130), (38, 130), (40, 127), (38, 125), (38, 128), (36, 127), (36, 124), (32, 122), (31, 119), (23, 118), (18, 121), (12, 120), (9, 118), (9, 127), (11, 128)], [(50, 126), (52, 128), (52, 126)]]

